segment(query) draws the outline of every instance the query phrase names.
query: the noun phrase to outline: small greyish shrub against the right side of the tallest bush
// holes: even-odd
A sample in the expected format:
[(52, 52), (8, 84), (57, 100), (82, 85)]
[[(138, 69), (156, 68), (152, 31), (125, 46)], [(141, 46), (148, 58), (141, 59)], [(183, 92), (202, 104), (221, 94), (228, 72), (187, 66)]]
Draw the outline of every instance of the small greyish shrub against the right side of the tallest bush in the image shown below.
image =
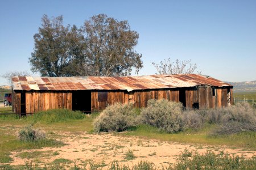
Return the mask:
[(184, 111), (183, 122), (185, 128), (197, 129), (203, 126), (203, 117), (193, 110)]

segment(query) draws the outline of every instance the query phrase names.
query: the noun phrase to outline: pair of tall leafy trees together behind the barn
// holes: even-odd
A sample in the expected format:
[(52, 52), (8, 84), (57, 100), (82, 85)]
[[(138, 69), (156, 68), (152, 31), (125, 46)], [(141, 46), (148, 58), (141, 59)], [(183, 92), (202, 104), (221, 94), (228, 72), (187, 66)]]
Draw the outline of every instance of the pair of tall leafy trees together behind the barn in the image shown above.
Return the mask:
[(139, 35), (126, 20), (94, 15), (84, 25), (63, 25), (63, 16), (42, 18), (29, 58), (42, 76), (125, 76), (143, 67), (134, 50)]

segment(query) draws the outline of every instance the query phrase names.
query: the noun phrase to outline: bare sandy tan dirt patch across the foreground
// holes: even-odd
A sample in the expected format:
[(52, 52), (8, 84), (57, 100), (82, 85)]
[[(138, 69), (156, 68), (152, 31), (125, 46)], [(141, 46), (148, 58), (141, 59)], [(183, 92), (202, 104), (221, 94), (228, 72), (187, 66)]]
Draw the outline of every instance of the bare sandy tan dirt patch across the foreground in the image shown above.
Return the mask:
[[(139, 137), (124, 137), (121, 135), (101, 133), (101, 134), (88, 134), (88, 133), (55, 133), (56, 138), (65, 142), (67, 145), (59, 148), (42, 148), (39, 150), (23, 150), (20, 152), (12, 152), (13, 162), (11, 165), (24, 164), (25, 162), (35, 161), (34, 159), (22, 159), (19, 157), (21, 152), (34, 152), (46, 151), (58, 152), (59, 155), (47, 156), (40, 158), (40, 164), (47, 164), (53, 162), (58, 158), (69, 159), (81, 168), (88, 169), (89, 164), (86, 165), (88, 160), (93, 160), (97, 164), (106, 164), (102, 169), (108, 169), (109, 164), (113, 161), (118, 161), (120, 164), (129, 165), (130, 167), (137, 164), (141, 160), (154, 162), (157, 167), (161, 168), (162, 165), (175, 163), (181, 151), (187, 148), (189, 151), (198, 151), (205, 153), (208, 150), (219, 153), (223, 148), (216, 146), (202, 146), (202, 145), (188, 145), (182, 143), (172, 143), (158, 141), (154, 139), (146, 139)], [(133, 151), (133, 160), (125, 159), (128, 151)], [(255, 156), (255, 151), (246, 151), (242, 149), (226, 148), (224, 152), (235, 154), (239, 156), (251, 157)], [(71, 163), (73, 166), (74, 163)]]

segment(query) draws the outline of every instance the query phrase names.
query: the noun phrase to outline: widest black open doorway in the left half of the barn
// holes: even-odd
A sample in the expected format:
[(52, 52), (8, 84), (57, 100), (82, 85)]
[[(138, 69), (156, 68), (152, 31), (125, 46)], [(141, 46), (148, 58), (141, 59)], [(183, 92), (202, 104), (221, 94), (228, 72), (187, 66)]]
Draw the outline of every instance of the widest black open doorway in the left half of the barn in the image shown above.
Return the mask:
[(73, 91), (72, 92), (72, 111), (90, 112), (90, 91)]

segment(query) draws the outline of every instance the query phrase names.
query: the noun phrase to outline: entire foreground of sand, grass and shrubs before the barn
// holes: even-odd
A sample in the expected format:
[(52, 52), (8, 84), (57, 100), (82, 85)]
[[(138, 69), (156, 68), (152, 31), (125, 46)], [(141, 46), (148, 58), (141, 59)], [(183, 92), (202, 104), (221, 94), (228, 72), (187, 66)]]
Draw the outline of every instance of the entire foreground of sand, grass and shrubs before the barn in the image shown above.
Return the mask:
[(152, 100), (142, 111), (115, 104), (92, 115), (59, 109), (22, 120), (1, 116), (0, 133), (0, 168), (6, 169), (256, 167), (255, 109), (247, 104), (184, 111)]

